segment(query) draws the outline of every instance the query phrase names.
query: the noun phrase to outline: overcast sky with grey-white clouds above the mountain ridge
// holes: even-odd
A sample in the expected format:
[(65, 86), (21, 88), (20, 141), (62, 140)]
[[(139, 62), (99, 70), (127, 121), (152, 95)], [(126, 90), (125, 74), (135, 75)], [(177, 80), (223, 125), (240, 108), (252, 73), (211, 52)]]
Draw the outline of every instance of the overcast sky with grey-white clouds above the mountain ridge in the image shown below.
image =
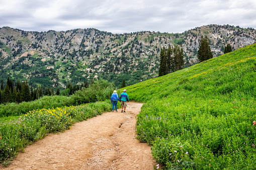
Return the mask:
[(256, 29), (255, 0), (0, 0), (0, 28), (183, 33), (209, 24)]

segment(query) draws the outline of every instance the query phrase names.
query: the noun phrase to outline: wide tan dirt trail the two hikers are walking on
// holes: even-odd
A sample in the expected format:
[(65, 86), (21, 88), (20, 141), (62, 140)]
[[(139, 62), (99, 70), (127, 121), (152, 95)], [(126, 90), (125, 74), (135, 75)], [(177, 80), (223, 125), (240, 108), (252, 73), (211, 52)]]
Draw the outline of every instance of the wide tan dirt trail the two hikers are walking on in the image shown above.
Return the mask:
[(126, 113), (106, 112), (48, 134), (1, 169), (153, 169), (150, 146), (135, 138), (142, 104), (129, 102)]

